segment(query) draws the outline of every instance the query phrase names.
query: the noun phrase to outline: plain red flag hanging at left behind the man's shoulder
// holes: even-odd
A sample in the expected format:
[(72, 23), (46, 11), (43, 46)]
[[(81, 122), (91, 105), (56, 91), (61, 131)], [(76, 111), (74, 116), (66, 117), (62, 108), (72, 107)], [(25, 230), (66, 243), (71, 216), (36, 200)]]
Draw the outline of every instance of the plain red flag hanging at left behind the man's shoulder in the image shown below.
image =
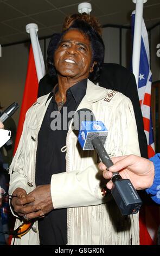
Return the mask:
[(34, 55), (33, 55), (32, 47), (30, 46), (29, 61), (28, 61), (28, 68), (27, 68), (27, 77), (26, 77), (25, 87), (24, 87), (22, 106), (21, 106), (21, 112), (20, 112), (20, 119), (19, 119), (19, 122), (18, 122), (14, 154), (16, 153), (18, 143), (20, 141), (20, 137), (21, 137), (21, 134), (22, 134), (23, 123), (24, 123), (24, 119), (25, 119), (25, 113), (33, 105), (33, 103), (36, 101), (38, 88), (39, 88), (39, 82), (38, 82), (38, 79), (37, 79)]

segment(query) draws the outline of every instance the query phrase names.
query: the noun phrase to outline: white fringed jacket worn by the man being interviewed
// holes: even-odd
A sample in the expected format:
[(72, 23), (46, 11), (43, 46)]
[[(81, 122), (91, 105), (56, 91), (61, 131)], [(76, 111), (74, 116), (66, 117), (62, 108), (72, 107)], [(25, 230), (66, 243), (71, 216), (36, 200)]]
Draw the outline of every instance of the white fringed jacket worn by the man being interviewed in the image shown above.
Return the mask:
[[(37, 99), (26, 114), (21, 140), (10, 166), (10, 194), (17, 187), (27, 193), (35, 188), (37, 136), (50, 102), (47, 98), (45, 95)], [(135, 114), (129, 98), (88, 80), (80, 108), (91, 109), (96, 120), (104, 122), (108, 129), (105, 148), (110, 156), (140, 155)], [(124, 218), (114, 200), (102, 196), (97, 154), (94, 150), (82, 151), (77, 140), (70, 125), (64, 153), (66, 172), (52, 175), (50, 183), (54, 209), (67, 208), (68, 245), (139, 245), (138, 214)], [(15, 228), (20, 224), (17, 218)], [(34, 227), (37, 233), (30, 230), (21, 239), (15, 239), (15, 244), (38, 245), (37, 222)]]

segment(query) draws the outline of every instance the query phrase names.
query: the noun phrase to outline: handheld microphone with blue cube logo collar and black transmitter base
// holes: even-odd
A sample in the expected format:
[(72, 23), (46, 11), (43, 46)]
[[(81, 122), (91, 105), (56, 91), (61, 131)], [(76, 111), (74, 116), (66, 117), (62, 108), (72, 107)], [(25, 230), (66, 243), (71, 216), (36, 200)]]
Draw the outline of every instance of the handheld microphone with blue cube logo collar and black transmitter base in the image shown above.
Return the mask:
[[(85, 109), (85, 111), (89, 111), (89, 109)], [(94, 120), (81, 122), (78, 140), (83, 150), (95, 149), (101, 161), (109, 168), (113, 165), (113, 162), (104, 148), (108, 131), (102, 121)], [(118, 205), (121, 215), (136, 214), (142, 205), (142, 200), (131, 181), (122, 179), (118, 172), (113, 173), (111, 180), (113, 181), (111, 194)]]

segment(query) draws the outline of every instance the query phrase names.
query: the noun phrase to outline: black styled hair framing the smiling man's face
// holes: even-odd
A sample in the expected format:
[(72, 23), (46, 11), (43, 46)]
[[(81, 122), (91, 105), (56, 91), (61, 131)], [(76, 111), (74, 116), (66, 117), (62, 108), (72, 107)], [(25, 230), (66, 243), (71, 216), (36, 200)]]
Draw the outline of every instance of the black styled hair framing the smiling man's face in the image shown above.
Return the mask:
[(90, 26), (87, 22), (82, 20), (75, 20), (71, 27), (69, 27), (65, 32), (61, 34), (54, 34), (50, 39), (49, 46), (48, 46), (48, 58), (47, 58), (47, 65), (49, 75), (51, 77), (56, 75), (56, 70), (54, 67), (54, 52), (61, 43), (61, 39), (64, 34), (66, 34), (71, 29), (78, 29), (82, 34), (88, 36), (89, 40), (91, 41), (91, 48), (92, 48), (92, 63), (91, 65), (96, 62), (94, 65), (93, 72), (89, 75), (89, 80), (94, 83), (98, 82), (98, 78), (100, 76), (101, 66), (104, 63), (104, 52), (105, 46), (103, 39), (101, 36), (94, 30), (92, 26)]

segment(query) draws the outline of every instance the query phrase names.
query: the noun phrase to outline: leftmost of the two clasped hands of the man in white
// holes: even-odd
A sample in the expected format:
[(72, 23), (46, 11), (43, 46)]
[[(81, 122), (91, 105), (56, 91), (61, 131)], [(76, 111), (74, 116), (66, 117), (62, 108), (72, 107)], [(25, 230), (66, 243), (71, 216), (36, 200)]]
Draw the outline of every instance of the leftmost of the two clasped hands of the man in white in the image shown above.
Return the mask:
[(40, 214), (43, 215), (43, 213), (40, 211), (41, 206), (30, 204), (35, 201), (35, 198), (33, 196), (28, 196), (23, 188), (16, 188), (16, 190), (12, 193), (12, 196), (16, 196), (11, 199), (11, 205), (18, 216), (24, 217), (26, 214), (30, 214), (30, 212), (33, 212), (34, 218), (40, 217)]

